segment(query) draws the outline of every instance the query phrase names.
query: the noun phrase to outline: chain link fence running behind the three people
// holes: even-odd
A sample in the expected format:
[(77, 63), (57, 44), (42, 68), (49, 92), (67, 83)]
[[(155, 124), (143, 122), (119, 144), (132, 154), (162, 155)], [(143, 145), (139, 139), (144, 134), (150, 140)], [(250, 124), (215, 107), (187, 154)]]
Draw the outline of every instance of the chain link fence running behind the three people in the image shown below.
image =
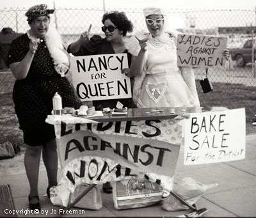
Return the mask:
[[(113, 9), (111, 9), (113, 10)], [(143, 9), (118, 9), (115, 10), (125, 12), (127, 17), (134, 24), (134, 31), (132, 34), (141, 29), (147, 29), (143, 17)], [(1, 95), (12, 96), (12, 89), (15, 79), (13, 78), (10, 69), (6, 66), (6, 57), (10, 42), (13, 37), (17, 37), (22, 33), (26, 33), (29, 29), (26, 21), (25, 13), (27, 9), (0, 9), (0, 26), (2, 31), (0, 33), (0, 93)], [(110, 10), (108, 10), (110, 11)], [(90, 24), (92, 24), (92, 35), (104, 35), (101, 32), (102, 15), (104, 10), (100, 9), (56, 9), (54, 15), (51, 17), (51, 26), (56, 27), (63, 37), (63, 43), (67, 47), (80, 37), (80, 33), (86, 31)], [(256, 11), (252, 10), (168, 10), (168, 26), (179, 30), (182, 33), (198, 34), (198, 35), (220, 35), (228, 36), (228, 48), (242, 49), (246, 41), (254, 39), (256, 33)], [(8, 33), (4, 33), (7, 31)], [(10, 31), (14, 33), (10, 34)], [(128, 35), (129, 37), (129, 35)], [(247, 42), (248, 43), (248, 42)], [(214, 84), (214, 94), (221, 93), (221, 90), (228, 90), (226, 93), (221, 93), (219, 98), (219, 105), (225, 106), (229, 103), (233, 108), (245, 107), (244, 104), (252, 105), (255, 114), (255, 100), (256, 100), (256, 70), (254, 61), (256, 53), (254, 51), (253, 43), (249, 43), (247, 48), (250, 50), (249, 58), (242, 57), (230, 59), (226, 69), (210, 68), (208, 77)], [(254, 43), (255, 44), (255, 43)], [(198, 80), (204, 79), (205, 69), (195, 69), (196, 86), (198, 88), (198, 95), (200, 102), (204, 102), (203, 106), (215, 106), (216, 100), (213, 101), (213, 92), (202, 92)], [(198, 85), (199, 84), (199, 85)], [(218, 85), (216, 85), (218, 84)], [(230, 86), (232, 84), (233, 86)], [(239, 104), (230, 97), (230, 93), (236, 92), (237, 99), (243, 99), (244, 92), (239, 91), (246, 87), (249, 97), (246, 97), (246, 102), (241, 101)], [(232, 90), (230, 90), (232, 89)], [(201, 101), (203, 99), (203, 101)], [(214, 103), (212, 103), (214, 102)], [(212, 105), (215, 104), (215, 105)], [(202, 104), (201, 104), (202, 105)], [(10, 106), (11, 108), (11, 106)], [(9, 108), (9, 109), (10, 109)], [(12, 105), (13, 110), (13, 105)], [(3, 110), (2, 110), (3, 111)], [(13, 111), (14, 113), (14, 111)], [(254, 116), (253, 114), (253, 116)], [(246, 114), (247, 115), (247, 114)], [(6, 118), (8, 119), (8, 118)], [(14, 117), (13, 117), (14, 119)], [(251, 119), (252, 120), (252, 119)], [(1, 121), (5, 123), (8, 120)], [(1, 124), (2, 124), (1, 123)], [(1, 129), (0, 129), (1, 131)], [(1, 133), (0, 133), (1, 134)]]

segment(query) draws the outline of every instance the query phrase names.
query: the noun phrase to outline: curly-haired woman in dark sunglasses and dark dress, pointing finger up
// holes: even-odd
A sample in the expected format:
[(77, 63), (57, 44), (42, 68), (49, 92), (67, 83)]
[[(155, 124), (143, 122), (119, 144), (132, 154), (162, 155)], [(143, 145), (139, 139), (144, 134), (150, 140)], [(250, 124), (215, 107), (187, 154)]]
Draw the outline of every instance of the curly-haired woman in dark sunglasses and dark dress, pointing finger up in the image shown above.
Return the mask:
[[(102, 17), (102, 31), (105, 33), (106, 38), (101, 38), (99, 35), (93, 35), (89, 40), (89, 33), (84, 32), (81, 34), (79, 40), (68, 45), (68, 53), (74, 56), (88, 56), (95, 54), (120, 54), (127, 53), (128, 65), (131, 66), (132, 54), (128, 52), (125, 46), (125, 36), (127, 32), (131, 33), (133, 25), (126, 17), (124, 12), (107, 12)], [(129, 76), (129, 69), (122, 70), (122, 73)], [(134, 79), (131, 79), (131, 86), (133, 86)], [(132, 98), (124, 99), (109, 99), (109, 100), (94, 100), (93, 106), (95, 110), (102, 110), (106, 107), (113, 109), (116, 107), (117, 102), (120, 102), (124, 107), (136, 107)], [(104, 192), (112, 193), (111, 184), (104, 183), (102, 186)]]

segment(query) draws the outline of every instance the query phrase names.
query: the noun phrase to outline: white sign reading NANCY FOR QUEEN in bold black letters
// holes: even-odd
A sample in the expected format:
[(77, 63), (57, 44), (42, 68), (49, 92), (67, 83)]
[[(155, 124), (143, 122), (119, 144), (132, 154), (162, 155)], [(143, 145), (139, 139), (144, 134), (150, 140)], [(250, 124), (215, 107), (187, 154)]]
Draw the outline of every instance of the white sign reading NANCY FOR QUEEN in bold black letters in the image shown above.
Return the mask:
[(127, 54), (100, 54), (70, 58), (72, 80), (81, 101), (131, 98)]

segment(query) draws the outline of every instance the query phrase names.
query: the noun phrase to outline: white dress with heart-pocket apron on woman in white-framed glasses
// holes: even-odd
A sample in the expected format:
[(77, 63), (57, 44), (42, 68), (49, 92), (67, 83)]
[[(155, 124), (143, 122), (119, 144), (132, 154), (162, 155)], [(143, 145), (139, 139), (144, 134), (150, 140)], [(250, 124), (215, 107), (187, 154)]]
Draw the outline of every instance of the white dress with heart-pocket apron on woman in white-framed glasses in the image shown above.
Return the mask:
[(138, 107), (199, 106), (192, 68), (177, 66), (175, 38), (159, 43), (152, 37), (143, 72), (135, 78), (133, 98)]

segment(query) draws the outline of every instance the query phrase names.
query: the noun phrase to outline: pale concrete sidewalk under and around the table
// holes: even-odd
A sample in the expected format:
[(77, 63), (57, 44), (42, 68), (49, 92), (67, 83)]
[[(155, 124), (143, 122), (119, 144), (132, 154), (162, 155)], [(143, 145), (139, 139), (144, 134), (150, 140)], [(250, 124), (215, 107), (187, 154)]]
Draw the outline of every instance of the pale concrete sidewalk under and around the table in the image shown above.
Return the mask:
[[(219, 185), (209, 189), (197, 201), (198, 208), (207, 208), (203, 217), (255, 217), (256, 215), (256, 135), (246, 136), (246, 159), (218, 164), (204, 164), (198, 166), (184, 166), (182, 164), (182, 150), (177, 164), (175, 180), (184, 177), (194, 178), (197, 182)], [(23, 212), (28, 209), (29, 185), (23, 164), (24, 155), (17, 155), (13, 159), (0, 160), (0, 185), (10, 184), (16, 210)], [(47, 215), (36, 216), (59, 217), (60, 207), (53, 206), (44, 197), (47, 188), (46, 171), (40, 164), (40, 203), (48, 212)], [(61, 171), (58, 177), (62, 178)], [(101, 190), (101, 189), (100, 189)], [(66, 214), (63, 217), (175, 217), (183, 212), (167, 212), (161, 208), (161, 203), (145, 208), (130, 210), (116, 210), (113, 205), (112, 194), (102, 193), (103, 208), (101, 210), (83, 210), (83, 215)], [(78, 209), (74, 209), (79, 211)], [(50, 214), (52, 211), (56, 214)], [(35, 214), (20, 214), (18, 217), (35, 217)]]

